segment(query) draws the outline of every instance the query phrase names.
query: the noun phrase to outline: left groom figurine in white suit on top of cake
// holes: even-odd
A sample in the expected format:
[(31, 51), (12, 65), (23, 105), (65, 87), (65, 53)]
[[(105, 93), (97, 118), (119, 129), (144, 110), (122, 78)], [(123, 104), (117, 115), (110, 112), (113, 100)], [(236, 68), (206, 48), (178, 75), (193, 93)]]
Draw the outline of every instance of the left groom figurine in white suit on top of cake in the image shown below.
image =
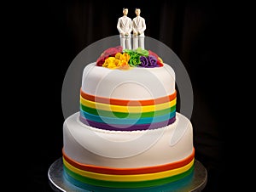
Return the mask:
[(119, 17), (117, 24), (117, 29), (120, 34), (120, 46), (122, 46), (123, 49), (131, 49), (132, 24), (131, 18), (127, 16), (128, 8), (123, 8), (123, 14), (122, 17)]

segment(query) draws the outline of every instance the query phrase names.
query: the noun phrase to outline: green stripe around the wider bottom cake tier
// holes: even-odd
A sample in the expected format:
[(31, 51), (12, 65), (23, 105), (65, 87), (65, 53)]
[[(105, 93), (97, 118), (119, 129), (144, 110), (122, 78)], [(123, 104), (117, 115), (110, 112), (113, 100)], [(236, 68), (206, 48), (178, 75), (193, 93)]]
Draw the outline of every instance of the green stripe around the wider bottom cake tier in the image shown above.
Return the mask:
[(169, 183), (178, 181), (188, 176), (191, 172), (193, 172), (194, 165), (190, 167), (188, 171), (168, 177), (168, 178), (159, 178), (154, 180), (137, 181), (137, 182), (106, 181), (106, 180), (98, 180), (95, 178), (87, 178), (79, 175), (78, 173), (70, 171), (65, 166), (63, 166), (63, 168), (69, 177), (74, 178), (81, 183), (91, 184), (99, 187), (108, 187), (108, 188), (143, 188), (143, 187), (154, 187), (161, 184), (169, 184)]

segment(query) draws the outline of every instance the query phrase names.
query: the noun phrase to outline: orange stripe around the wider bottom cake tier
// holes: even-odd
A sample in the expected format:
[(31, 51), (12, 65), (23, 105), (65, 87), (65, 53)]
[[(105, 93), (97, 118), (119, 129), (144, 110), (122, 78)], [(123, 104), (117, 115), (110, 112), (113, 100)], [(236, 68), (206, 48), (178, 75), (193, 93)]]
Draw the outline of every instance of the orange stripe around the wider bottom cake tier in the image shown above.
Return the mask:
[(175, 161), (172, 163), (168, 163), (165, 165), (160, 166), (153, 166), (153, 167), (139, 167), (139, 168), (115, 168), (115, 167), (99, 167), (93, 165), (86, 165), (79, 163), (78, 161), (74, 161), (69, 158), (64, 149), (62, 149), (63, 158), (71, 164), (73, 167), (77, 167), (78, 169), (88, 171), (88, 172), (98, 172), (103, 174), (117, 174), (117, 175), (130, 175), (130, 174), (143, 174), (143, 173), (154, 173), (154, 172), (164, 172), (172, 169), (176, 169), (178, 167), (183, 167), (189, 162), (193, 161), (195, 157), (195, 149), (193, 148), (192, 153), (180, 161)]

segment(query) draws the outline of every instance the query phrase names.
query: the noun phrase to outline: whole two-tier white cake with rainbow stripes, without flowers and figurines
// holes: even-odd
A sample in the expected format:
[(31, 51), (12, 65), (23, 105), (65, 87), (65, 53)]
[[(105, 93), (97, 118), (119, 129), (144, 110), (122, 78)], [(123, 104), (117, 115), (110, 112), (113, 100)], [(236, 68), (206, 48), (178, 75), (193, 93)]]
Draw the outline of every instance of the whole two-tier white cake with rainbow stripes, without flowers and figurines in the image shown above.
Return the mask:
[(170, 65), (84, 68), (80, 111), (63, 125), (68, 181), (84, 189), (160, 189), (193, 173), (192, 125), (176, 111)]

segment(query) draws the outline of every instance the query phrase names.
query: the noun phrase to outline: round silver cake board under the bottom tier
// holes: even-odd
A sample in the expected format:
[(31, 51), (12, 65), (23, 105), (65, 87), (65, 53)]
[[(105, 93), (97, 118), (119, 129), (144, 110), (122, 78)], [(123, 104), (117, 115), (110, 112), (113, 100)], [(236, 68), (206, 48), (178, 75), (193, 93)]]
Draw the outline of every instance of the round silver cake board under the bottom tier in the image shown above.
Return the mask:
[[(76, 191), (76, 192), (91, 192), (90, 190), (81, 189), (69, 183), (63, 175), (62, 158), (57, 159), (51, 164), (48, 170), (49, 185), (54, 191)], [(205, 188), (207, 184), (207, 169), (200, 161), (195, 160), (195, 170), (193, 178), (188, 185), (176, 190), (178, 192), (198, 192)]]

